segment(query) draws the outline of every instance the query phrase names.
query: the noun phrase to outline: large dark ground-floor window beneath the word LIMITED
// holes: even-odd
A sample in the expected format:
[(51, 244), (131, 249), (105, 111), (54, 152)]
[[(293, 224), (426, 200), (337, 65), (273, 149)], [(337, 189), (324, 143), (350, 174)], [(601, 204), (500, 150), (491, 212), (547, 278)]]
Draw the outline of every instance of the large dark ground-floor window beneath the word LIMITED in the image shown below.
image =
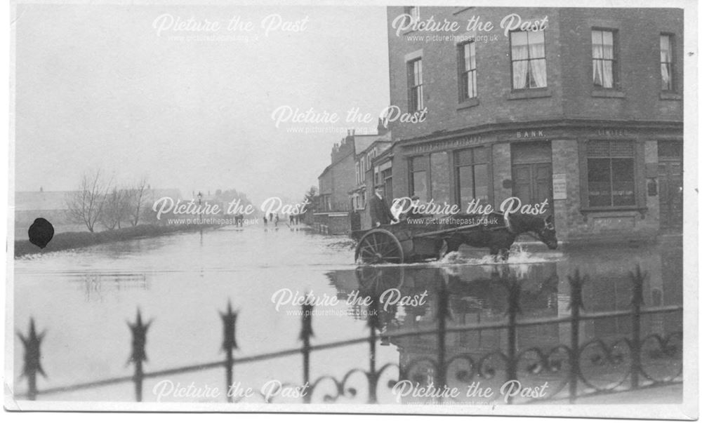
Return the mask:
[(634, 145), (631, 141), (588, 141), (590, 207), (634, 206)]

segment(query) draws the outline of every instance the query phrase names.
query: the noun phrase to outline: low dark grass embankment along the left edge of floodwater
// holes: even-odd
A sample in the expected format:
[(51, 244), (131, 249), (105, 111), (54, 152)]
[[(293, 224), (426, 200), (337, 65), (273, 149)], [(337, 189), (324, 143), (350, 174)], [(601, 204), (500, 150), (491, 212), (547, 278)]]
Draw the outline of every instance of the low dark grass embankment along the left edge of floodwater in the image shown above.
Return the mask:
[(15, 257), (27, 254), (50, 253), (51, 251), (70, 250), (72, 248), (83, 248), (95, 246), (102, 243), (116, 241), (128, 241), (135, 238), (145, 238), (151, 236), (161, 236), (173, 234), (175, 232), (197, 231), (215, 227), (212, 224), (179, 224), (179, 225), (159, 225), (159, 224), (139, 224), (135, 227), (114, 229), (102, 232), (62, 232), (55, 234), (46, 248), (39, 248), (29, 240), (23, 239), (15, 241)]

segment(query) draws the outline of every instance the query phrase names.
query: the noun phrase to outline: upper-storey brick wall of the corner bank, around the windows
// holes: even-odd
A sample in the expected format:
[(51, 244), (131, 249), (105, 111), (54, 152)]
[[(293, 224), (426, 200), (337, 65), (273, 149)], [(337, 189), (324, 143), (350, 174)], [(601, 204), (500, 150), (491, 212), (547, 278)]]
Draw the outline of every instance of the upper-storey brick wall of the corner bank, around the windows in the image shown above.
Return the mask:
[[(459, 9), (462, 11), (457, 13)], [(673, 34), (675, 85), (677, 93), (682, 93), (682, 10), (421, 7), (422, 20), (433, 16), (437, 21), (446, 19), (461, 24), (461, 31), (439, 34), (471, 34), (464, 29), (465, 22), (473, 15), (496, 26), (491, 32), (474, 33), (491, 34), (496, 39), (475, 43), (478, 95), (471, 107), (464, 107), (458, 101), (456, 43), (409, 39), (428, 36), (430, 32), (404, 32), (397, 36), (392, 20), (402, 13), (402, 7), (388, 7), (390, 102), (404, 112), (408, 110), (406, 55), (420, 51), (428, 115), (423, 123), (390, 122), (395, 140), (486, 123), (541, 119), (682, 121), (680, 98), (675, 95), (672, 99), (661, 98), (658, 50), (660, 34)], [(539, 93), (539, 98), (512, 93), (510, 41), (499, 28), (502, 18), (510, 13), (517, 13), (525, 20), (548, 16), (545, 30), (548, 89)], [(592, 95), (592, 27), (618, 30), (623, 98)]]

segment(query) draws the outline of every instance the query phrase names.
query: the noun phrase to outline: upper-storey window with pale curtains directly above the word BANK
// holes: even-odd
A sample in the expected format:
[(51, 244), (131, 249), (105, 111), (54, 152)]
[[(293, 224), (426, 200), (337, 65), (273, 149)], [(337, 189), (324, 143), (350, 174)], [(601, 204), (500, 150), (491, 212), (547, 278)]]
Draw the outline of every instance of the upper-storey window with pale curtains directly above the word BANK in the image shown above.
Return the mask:
[(510, 32), (512, 89), (546, 87), (546, 45), (541, 31)]

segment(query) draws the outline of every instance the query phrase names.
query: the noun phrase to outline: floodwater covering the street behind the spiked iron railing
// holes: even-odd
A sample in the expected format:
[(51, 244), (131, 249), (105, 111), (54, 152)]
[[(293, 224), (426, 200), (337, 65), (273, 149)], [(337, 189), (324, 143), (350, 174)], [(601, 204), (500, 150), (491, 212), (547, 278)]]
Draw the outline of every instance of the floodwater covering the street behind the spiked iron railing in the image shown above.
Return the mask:
[[(275, 381), (302, 384), (303, 358), (292, 354), (263, 361), (236, 361), (302, 347), (300, 306), (292, 302), (309, 294), (318, 301), (312, 312), (313, 347), (367, 337), (369, 316), (376, 316), (373, 313), (377, 311), (374, 364), (376, 369), (392, 364), (380, 375), (378, 401), (408, 403), (412, 398), (400, 398), (388, 382), (398, 380), (397, 366), (418, 383), (434, 382), (435, 372), (425, 358), (436, 360), (437, 337), (395, 337), (393, 333), (431, 330), (442, 316), (448, 328), (506, 323), (510, 304), (515, 301), (519, 308), (512, 310), (517, 321), (567, 317), (571, 313), (568, 278), (576, 269), (588, 277), (583, 286), (586, 312), (628, 310), (632, 298), (628, 272), (637, 265), (647, 272), (644, 307), (682, 304), (680, 239), (652, 245), (558, 250), (528, 244), (517, 246), (505, 264), (491, 262), (486, 251), (470, 249), (462, 249), (442, 262), (404, 266), (359, 268), (353, 257), (351, 242), (345, 237), (287, 226), (268, 231), (225, 227), (22, 257), (14, 263), (15, 329), (27, 333), (29, 320), (34, 318), (37, 330), (46, 331), (41, 343), (41, 364), (46, 372), (46, 377), (38, 379), (41, 391), (130, 376), (133, 366), (128, 363), (131, 331), (127, 323), (135, 321), (137, 310), (144, 321), (152, 322), (147, 332), (145, 372), (221, 361), (225, 353), (220, 312), (230, 303), (239, 312), (234, 382), (237, 387), (256, 392), (251, 398), (234, 399), (256, 402), (262, 400), (258, 392), (274, 386)], [(505, 281), (519, 281), (519, 295), (510, 296), (512, 291)], [(383, 293), (385, 297), (380, 297)], [(445, 305), (439, 304), (442, 295), (447, 295)], [(364, 297), (380, 300), (378, 307), (355, 302)], [(682, 344), (675, 333), (682, 332), (682, 313), (645, 315), (640, 324), (642, 337), (655, 333), (661, 335), (663, 344), (661, 347), (661, 342), (656, 344), (656, 339), (649, 338), (644, 345), (644, 367), (648, 365), (647, 371), (656, 377), (676, 375)], [(612, 387), (626, 377), (630, 360), (625, 345), (618, 340), (630, 336), (631, 330), (630, 316), (581, 323), (581, 343), (602, 340), (609, 345), (602, 348), (595, 343), (583, 351), (581, 370), (592, 370), (585, 375), (592, 386)], [(550, 381), (549, 395), (555, 394), (569, 371), (563, 365), (567, 358), (556, 347), (569, 344), (570, 324), (524, 326), (517, 328), (514, 337), (517, 353), (524, 354), (524, 362), (518, 365), (520, 377), (531, 377), (529, 383), (538, 382), (539, 386)], [(509, 344), (506, 328), (447, 333), (447, 384), (460, 386), (465, 392), (470, 372), (461, 369), (472, 368), (473, 380), (498, 387), (505, 381), (505, 369), (499, 356), (490, 354), (505, 353)], [(539, 361), (537, 351), (548, 359)], [(27, 380), (20, 377), (23, 354), (22, 343), (15, 342), (18, 393), (27, 389)], [(646, 361), (649, 358), (650, 362)], [(329, 376), (340, 382), (353, 368), (368, 369), (369, 365), (368, 342), (312, 351), (310, 380)], [(552, 374), (538, 371), (543, 365)], [(333, 380), (326, 379), (314, 389), (312, 402), (325, 401), (325, 394), (338, 394)], [(176, 389), (168, 391), (171, 384), (192, 384), (198, 391), (177, 396)], [(225, 385), (224, 368), (159, 376), (145, 380), (143, 399), (225, 402)], [(347, 395), (337, 401), (367, 400), (363, 375), (352, 374), (344, 388), (351, 386), (357, 389), (357, 395), (345, 391)], [(213, 387), (220, 390), (218, 396), (212, 394)], [(561, 394), (565, 391), (567, 387)], [(268, 392), (270, 401), (277, 403), (300, 401), (293, 389)], [(133, 401), (134, 388), (131, 382), (125, 382), (39, 394), (38, 399)]]

